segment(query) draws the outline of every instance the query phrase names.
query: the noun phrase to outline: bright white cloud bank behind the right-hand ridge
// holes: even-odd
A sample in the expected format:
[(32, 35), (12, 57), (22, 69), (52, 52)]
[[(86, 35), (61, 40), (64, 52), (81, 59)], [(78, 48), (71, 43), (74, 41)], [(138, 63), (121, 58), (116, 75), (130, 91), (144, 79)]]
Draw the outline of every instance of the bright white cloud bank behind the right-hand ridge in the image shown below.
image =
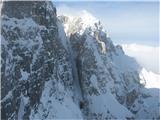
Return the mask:
[(122, 44), (125, 54), (134, 57), (147, 70), (160, 74), (160, 47), (138, 44)]

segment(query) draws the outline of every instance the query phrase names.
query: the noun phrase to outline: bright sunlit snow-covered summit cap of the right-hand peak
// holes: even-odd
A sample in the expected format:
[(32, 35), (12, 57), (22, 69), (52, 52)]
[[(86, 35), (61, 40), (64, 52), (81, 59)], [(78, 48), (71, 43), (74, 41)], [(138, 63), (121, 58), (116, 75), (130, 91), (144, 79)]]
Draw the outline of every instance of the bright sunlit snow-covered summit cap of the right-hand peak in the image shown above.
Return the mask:
[(59, 16), (59, 19), (63, 22), (67, 35), (75, 32), (82, 35), (85, 31), (93, 32), (96, 30), (105, 32), (100, 20), (86, 10), (80, 11), (77, 15), (64, 14)]

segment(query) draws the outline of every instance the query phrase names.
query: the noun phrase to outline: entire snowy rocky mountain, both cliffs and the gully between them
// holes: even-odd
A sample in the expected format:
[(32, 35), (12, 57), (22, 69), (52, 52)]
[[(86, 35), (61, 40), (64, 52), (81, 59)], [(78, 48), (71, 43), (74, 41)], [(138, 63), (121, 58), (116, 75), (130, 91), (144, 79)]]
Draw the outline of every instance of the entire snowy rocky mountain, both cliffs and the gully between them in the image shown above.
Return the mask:
[(8, 1), (1, 15), (2, 119), (160, 117), (142, 68), (86, 11), (57, 18), (52, 2)]

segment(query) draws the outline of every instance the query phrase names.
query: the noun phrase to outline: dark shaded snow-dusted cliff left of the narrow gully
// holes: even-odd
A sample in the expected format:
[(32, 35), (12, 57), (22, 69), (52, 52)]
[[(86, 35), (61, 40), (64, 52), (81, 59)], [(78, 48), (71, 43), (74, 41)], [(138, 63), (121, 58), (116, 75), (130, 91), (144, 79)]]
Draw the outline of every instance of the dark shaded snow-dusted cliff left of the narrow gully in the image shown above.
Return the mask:
[(6, 1), (1, 15), (2, 119), (80, 118), (53, 4)]

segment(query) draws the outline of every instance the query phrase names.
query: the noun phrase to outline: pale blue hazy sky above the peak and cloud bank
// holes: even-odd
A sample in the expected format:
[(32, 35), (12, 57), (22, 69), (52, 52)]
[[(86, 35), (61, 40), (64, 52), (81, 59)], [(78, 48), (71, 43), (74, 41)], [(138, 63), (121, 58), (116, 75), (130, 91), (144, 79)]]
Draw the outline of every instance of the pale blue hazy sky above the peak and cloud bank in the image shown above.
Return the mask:
[(159, 46), (158, 2), (54, 2), (58, 13), (87, 10), (115, 44)]

